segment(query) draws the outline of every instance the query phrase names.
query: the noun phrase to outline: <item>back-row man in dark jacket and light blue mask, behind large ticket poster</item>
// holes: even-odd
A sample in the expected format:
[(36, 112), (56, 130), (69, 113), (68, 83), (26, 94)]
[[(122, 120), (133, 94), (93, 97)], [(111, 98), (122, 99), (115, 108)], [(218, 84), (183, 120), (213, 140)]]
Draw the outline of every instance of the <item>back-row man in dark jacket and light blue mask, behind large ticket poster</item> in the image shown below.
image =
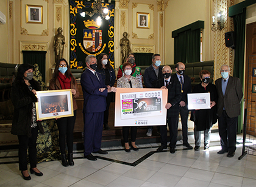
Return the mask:
[[(145, 69), (145, 72), (143, 75), (144, 84), (147, 88), (155, 88), (155, 82), (158, 79), (163, 78), (162, 66), (160, 66), (160, 64), (161, 64), (161, 56), (156, 53), (152, 56), (151, 66)], [(148, 132), (146, 134), (148, 137), (152, 136), (152, 129), (153, 129), (153, 126), (148, 126)]]

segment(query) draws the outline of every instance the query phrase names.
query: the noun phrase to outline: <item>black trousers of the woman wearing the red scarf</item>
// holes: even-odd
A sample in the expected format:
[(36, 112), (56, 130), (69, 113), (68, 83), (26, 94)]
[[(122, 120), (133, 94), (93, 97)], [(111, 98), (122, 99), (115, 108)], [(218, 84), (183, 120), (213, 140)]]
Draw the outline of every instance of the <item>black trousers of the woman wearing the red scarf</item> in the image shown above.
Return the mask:
[(65, 154), (66, 145), (68, 146), (68, 153), (73, 152), (73, 132), (74, 124), (76, 122), (76, 110), (74, 116), (60, 118), (56, 120), (59, 129), (59, 146), (61, 154)]

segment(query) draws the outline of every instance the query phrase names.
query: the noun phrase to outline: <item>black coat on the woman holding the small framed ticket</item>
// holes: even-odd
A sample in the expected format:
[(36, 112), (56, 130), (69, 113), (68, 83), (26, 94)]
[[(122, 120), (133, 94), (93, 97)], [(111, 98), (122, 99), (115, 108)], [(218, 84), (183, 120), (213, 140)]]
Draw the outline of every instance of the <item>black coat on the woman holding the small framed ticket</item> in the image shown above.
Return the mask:
[[(197, 84), (194, 86), (193, 93), (207, 93), (210, 92), (210, 100), (215, 101), (217, 104), (218, 94), (216, 90), (216, 86), (212, 83), (209, 83), (204, 89), (202, 84)], [(206, 129), (210, 129), (217, 122), (217, 105), (212, 107), (212, 109), (200, 109), (200, 110), (192, 110), (191, 111), (191, 121), (194, 121), (194, 125), (196, 126), (197, 131), (205, 131)]]

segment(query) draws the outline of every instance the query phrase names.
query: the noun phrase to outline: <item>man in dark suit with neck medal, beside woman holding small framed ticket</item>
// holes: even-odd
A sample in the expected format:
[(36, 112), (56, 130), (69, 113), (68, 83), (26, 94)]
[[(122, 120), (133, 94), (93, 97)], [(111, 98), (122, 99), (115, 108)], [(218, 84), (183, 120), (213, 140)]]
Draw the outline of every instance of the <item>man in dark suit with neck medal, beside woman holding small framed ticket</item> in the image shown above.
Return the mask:
[(188, 75), (185, 75), (185, 64), (177, 63), (175, 65), (177, 73), (171, 76), (176, 81), (179, 81), (182, 92), (182, 100), (179, 103), (179, 113), (182, 122), (182, 140), (183, 146), (188, 149), (193, 147), (188, 143), (188, 94), (191, 93), (191, 80)]

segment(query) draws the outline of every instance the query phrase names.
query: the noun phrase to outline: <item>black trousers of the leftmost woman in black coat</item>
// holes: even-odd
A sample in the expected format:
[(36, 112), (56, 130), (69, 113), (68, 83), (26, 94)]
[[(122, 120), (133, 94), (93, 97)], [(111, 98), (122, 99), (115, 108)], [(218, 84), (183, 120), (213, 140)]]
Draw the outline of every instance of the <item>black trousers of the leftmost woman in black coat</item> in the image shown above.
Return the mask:
[(18, 135), (20, 171), (27, 170), (27, 147), (29, 147), (30, 168), (37, 168), (37, 130), (37, 127), (31, 128), (31, 137), (27, 137), (27, 135)]

